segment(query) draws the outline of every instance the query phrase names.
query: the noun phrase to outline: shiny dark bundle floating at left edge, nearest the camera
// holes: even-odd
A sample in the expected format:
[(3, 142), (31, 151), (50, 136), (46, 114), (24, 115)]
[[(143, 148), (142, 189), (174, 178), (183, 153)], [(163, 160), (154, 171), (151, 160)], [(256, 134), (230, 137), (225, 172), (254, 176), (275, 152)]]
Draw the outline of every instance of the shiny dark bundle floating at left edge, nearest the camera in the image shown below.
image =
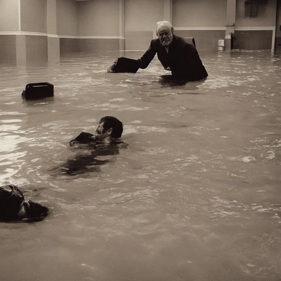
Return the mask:
[(0, 221), (39, 221), (48, 215), (49, 209), (32, 200), (24, 201), (24, 195), (13, 184), (0, 187)]

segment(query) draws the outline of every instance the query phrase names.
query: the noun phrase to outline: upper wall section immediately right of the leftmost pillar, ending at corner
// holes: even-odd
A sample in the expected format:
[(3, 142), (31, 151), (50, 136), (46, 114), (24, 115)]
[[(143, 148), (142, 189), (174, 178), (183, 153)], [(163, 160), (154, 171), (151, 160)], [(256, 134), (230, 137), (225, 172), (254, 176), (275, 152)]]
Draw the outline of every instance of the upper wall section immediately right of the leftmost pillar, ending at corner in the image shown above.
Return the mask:
[(78, 4), (75, 0), (56, 1), (58, 35), (78, 36)]

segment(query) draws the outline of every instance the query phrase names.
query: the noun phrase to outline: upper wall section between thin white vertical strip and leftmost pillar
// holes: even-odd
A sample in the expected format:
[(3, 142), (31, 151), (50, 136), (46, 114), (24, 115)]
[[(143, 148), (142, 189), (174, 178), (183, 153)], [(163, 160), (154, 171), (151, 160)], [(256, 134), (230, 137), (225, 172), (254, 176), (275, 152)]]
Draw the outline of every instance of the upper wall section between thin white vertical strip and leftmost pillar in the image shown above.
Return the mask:
[(21, 31), (46, 33), (46, 0), (20, 0)]

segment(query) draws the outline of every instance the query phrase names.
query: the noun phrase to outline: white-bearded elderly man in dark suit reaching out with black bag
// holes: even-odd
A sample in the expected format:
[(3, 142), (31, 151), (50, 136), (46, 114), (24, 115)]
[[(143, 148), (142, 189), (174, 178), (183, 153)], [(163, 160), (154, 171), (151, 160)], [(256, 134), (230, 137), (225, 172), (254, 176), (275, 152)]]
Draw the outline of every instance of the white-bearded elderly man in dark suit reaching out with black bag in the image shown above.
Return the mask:
[[(122, 63), (119, 58), (108, 72), (136, 72), (138, 68), (144, 69), (157, 53), (163, 67), (170, 70), (175, 79), (188, 82), (198, 81), (208, 76), (195, 46), (187, 43), (184, 38), (174, 35), (174, 28), (169, 22), (158, 22), (156, 35), (158, 39), (151, 40), (148, 50), (140, 59), (130, 61), (126, 59), (123, 62), (125, 67), (123, 66), (123, 70), (118, 71), (118, 68), (122, 69), (122, 66), (118, 67), (118, 63)], [(129, 69), (126, 71), (128, 66)], [(136, 70), (132, 71), (134, 67)]]

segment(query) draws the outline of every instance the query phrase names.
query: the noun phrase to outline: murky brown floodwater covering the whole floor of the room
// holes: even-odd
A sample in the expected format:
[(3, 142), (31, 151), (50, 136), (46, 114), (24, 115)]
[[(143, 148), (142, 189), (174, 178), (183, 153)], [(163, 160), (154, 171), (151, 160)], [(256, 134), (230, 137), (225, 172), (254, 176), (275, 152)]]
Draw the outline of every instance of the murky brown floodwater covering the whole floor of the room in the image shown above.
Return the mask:
[[(105, 74), (116, 52), (1, 66), (0, 184), (51, 208), (0, 223), (1, 280), (281, 280), (281, 53), (200, 55), (208, 79), (184, 86), (159, 83), (157, 59)], [(34, 82), (54, 100), (24, 102)], [(129, 146), (100, 171), (51, 175), (105, 115)]]

